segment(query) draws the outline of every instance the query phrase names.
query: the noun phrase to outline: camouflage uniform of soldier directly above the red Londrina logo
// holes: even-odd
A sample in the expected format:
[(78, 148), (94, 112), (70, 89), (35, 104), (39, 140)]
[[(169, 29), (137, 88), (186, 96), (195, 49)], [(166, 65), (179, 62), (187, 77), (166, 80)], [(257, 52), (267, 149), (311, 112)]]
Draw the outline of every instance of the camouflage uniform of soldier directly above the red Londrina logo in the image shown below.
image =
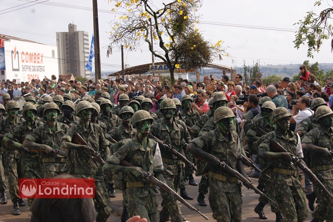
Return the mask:
[[(47, 123), (35, 128), (32, 133), (26, 136), (26, 140), (38, 144), (45, 144), (53, 149), (60, 149), (61, 138), (67, 133), (69, 127), (60, 122), (55, 122), (56, 131), (52, 132)], [(64, 150), (63, 150), (64, 151)], [(64, 151), (67, 153), (67, 151)], [(40, 153), (42, 159), (42, 171), (44, 178), (52, 178), (69, 170), (67, 158), (55, 154)]]

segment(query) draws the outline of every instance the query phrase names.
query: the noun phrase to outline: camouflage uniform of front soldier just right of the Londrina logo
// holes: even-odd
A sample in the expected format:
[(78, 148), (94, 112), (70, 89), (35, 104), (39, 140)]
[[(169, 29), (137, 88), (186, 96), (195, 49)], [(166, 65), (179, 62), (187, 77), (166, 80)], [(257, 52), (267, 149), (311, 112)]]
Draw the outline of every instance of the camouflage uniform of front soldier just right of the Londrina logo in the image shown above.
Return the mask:
[[(135, 137), (124, 146), (122, 146), (109, 159), (108, 163), (119, 164), (121, 160), (126, 159), (134, 166), (141, 167), (151, 173), (161, 172), (156, 169), (156, 162), (162, 162), (161, 157), (157, 160), (155, 155), (158, 152), (157, 142), (146, 138), (147, 148), (141, 146), (141, 143)], [(139, 215), (148, 221), (159, 221), (158, 198), (159, 193), (156, 186), (150, 183), (137, 181), (131, 173), (125, 174), (126, 193), (128, 197), (129, 216)], [(162, 192), (161, 192), (162, 193)], [(176, 203), (173, 200), (174, 203)], [(180, 217), (181, 219), (181, 217)]]

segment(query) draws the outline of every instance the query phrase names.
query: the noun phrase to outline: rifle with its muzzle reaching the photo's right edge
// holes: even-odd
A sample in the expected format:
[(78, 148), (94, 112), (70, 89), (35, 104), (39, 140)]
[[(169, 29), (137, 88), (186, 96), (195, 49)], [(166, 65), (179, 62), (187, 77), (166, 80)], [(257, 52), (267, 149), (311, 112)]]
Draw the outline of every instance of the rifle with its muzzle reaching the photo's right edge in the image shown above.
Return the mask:
[[(266, 134), (266, 132), (258, 127), (258, 132), (261, 131), (261, 133)], [(270, 150), (272, 152), (276, 153), (288, 153), (286, 149), (284, 149), (279, 143), (277, 143), (275, 140), (272, 140), (269, 144)], [(332, 154), (333, 152), (330, 151)], [(301, 159), (298, 157), (292, 156), (292, 163), (298, 166), (305, 174), (307, 174), (311, 180), (312, 183), (314, 183), (316, 186), (318, 186), (322, 191), (324, 191), (328, 196), (333, 198), (333, 195), (325, 188), (325, 186), (319, 181), (318, 177), (309, 169), (304, 163), (302, 163)]]

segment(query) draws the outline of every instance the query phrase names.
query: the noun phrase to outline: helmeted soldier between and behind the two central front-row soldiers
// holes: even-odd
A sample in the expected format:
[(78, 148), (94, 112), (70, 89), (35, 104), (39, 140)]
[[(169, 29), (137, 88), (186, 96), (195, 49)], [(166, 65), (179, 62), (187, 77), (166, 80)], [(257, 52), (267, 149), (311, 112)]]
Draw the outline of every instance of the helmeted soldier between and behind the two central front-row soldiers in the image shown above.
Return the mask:
[[(164, 99), (161, 103), (160, 111), (163, 114), (161, 123), (152, 125), (152, 135), (162, 140), (165, 144), (170, 144), (178, 152), (182, 152), (182, 146), (191, 141), (186, 125), (182, 121), (174, 121), (173, 115), (176, 111), (176, 105), (171, 99)], [(172, 154), (166, 149), (161, 150), (163, 160), (163, 176), (167, 185), (176, 190), (181, 180), (181, 165), (182, 162), (176, 160)], [(185, 190), (181, 190), (184, 193)], [(161, 191), (163, 200), (165, 201), (162, 210), (160, 211), (160, 220), (167, 221), (169, 216), (171, 221), (182, 221), (182, 215), (179, 205), (169, 193)]]

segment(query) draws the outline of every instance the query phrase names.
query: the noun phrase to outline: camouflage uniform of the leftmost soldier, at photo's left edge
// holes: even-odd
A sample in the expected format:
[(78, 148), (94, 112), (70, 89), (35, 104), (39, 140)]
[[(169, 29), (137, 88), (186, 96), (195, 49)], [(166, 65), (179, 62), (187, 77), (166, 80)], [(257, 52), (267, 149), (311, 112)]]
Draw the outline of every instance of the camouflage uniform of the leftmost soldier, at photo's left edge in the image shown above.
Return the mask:
[[(12, 132), (15, 127), (23, 124), (25, 120), (19, 116), (15, 117), (12, 122), (9, 117), (0, 121), (0, 131)], [(19, 179), (22, 178), (22, 168), (20, 161), (20, 152), (18, 150), (7, 150), (4, 144), (4, 167), (5, 174), (8, 177), (9, 193), (11, 195), (12, 202), (15, 203), (19, 200)]]

